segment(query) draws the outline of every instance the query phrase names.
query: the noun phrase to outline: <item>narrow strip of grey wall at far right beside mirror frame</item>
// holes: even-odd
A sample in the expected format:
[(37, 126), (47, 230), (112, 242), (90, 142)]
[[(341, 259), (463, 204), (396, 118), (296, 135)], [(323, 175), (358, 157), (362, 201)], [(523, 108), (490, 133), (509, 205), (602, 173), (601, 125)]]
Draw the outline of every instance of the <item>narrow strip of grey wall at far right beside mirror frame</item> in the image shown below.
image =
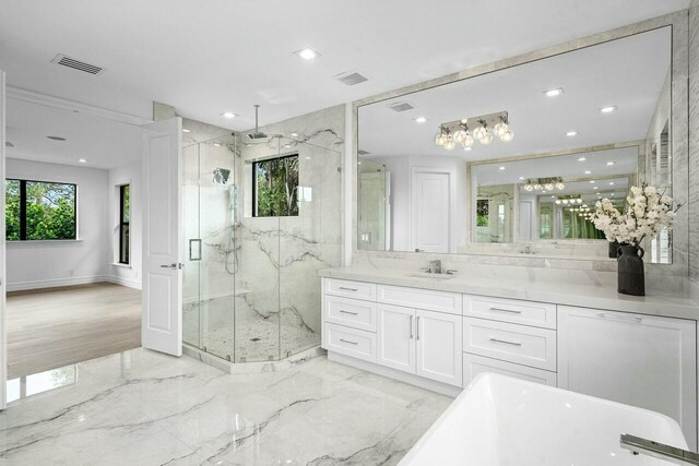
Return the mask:
[(689, 8), (689, 277), (699, 282), (699, 0)]

